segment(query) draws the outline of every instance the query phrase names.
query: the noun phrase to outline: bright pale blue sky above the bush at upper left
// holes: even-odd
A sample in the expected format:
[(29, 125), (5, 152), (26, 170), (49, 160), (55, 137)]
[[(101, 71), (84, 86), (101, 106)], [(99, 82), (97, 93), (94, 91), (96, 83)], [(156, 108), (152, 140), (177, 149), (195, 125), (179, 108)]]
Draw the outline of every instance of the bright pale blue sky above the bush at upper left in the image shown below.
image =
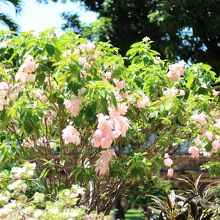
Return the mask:
[[(36, 32), (47, 28), (56, 27), (57, 32), (61, 32), (61, 24), (64, 23), (60, 14), (64, 11), (78, 12), (82, 22), (91, 23), (96, 20), (96, 14), (86, 12), (78, 3), (67, 2), (49, 4), (38, 4), (35, 0), (23, 0), (23, 10), (20, 15), (15, 15), (13, 7), (10, 5), (0, 5), (1, 11), (9, 14), (20, 26), (21, 31), (34, 30)], [(5, 29), (0, 25), (0, 29)]]

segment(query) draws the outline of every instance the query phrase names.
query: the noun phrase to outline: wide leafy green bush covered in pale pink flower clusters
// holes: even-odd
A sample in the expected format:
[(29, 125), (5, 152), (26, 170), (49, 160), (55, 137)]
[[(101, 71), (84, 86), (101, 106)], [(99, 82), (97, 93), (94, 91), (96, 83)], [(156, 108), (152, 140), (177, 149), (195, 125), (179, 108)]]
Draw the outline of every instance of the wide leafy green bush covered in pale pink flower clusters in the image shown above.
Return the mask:
[(77, 183), (88, 212), (108, 212), (161, 166), (172, 176), (168, 152), (179, 145), (193, 158), (217, 153), (219, 79), (202, 63), (170, 65), (151, 43), (123, 58), (71, 32), (2, 33), (1, 167), (34, 162), (51, 198)]

